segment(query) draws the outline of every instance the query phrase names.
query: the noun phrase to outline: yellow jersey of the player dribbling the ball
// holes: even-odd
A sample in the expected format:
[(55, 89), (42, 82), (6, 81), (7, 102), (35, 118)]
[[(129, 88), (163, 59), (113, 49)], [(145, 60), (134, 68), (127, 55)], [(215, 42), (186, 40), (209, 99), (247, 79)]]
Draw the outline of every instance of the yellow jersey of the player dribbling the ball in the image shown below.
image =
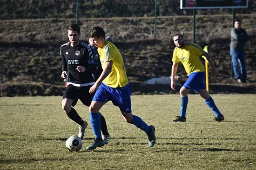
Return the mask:
[(106, 41), (104, 47), (98, 48), (100, 55), (101, 67), (104, 69), (105, 63), (112, 60), (112, 70), (109, 75), (103, 80), (103, 83), (112, 88), (124, 87), (128, 84), (126, 69), (124, 67), (123, 58), (116, 46)]

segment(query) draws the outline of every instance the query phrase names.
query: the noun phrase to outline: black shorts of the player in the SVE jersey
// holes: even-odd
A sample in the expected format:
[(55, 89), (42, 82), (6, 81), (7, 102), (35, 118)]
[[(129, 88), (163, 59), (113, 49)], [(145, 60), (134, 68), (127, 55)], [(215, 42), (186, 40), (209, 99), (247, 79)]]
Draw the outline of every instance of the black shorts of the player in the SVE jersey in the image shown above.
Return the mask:
[(94, 98), (94, 94), (89, 93), (90, 87), (92, 87), (92, 86), (75, 87), (73, 85), (68, 85), (65, 93), (63, 94), (62, 99), (72, 99), (73, 107), (76, 105), (78, 99), (80, 99), (80, 101), (85, 106), (89, 107)]

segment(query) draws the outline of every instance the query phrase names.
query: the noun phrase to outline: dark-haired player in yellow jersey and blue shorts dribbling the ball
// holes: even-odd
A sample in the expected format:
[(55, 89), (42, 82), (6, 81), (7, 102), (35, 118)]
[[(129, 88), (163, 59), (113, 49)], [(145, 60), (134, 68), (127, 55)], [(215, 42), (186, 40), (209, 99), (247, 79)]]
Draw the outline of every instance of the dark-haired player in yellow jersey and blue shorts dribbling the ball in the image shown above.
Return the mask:
[(115, 106), (120, 108), (126, 122), (147, 133), (148, 146), (153, 147), (155, 145), (155, 127), (148, 126), (140, 117), (132, 114), (130, 85), (120, 51), (113, 43), (106, 41), (105, 31), (99, 26), (91, 29), (89, 36), (98, 48), (103, 71), (89, 90), (90, 94), (95, 92), (89, 111), (90, 122), (96, 139), (87, 149), (93, 150), (104, 145), (101, 138), (99, 110), (108, 101), (112, 101)]

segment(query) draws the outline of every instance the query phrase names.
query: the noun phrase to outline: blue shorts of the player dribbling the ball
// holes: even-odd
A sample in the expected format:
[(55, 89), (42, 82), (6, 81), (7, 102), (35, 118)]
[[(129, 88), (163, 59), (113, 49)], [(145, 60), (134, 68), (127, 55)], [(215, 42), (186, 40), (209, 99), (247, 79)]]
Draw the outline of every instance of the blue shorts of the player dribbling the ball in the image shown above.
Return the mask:
[(121, 112), (132, 113), (129, 83), (122, 88), (111, 88), (106, 84), (101, 83), (94, 95), (93, 101), (98, 101), (101, 103), (112, 101), (115, 106), (120, 108)]

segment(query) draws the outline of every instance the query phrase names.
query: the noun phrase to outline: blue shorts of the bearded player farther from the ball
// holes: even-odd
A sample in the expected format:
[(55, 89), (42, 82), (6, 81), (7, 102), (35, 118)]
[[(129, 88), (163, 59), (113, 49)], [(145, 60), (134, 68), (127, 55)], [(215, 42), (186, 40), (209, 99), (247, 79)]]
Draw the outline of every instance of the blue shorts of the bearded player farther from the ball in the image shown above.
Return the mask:
[(188, 80), (183, 84), (184, 88), (194, 90), (198, 93), (199, 90), (206, 89), (204, 84), (205, 71), (193, 72), (189, 74)]

